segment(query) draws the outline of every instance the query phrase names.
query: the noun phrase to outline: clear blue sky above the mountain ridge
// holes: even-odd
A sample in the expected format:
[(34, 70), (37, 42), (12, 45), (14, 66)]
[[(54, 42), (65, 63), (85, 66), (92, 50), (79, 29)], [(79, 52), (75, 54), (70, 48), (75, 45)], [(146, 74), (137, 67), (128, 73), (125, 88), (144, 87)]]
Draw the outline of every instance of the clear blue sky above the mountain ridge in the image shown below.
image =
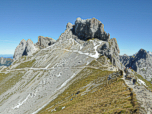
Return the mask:
[(58, 39), (77, 17), (100, 20), (121, 55), (152, 51), (151, 5), (152, 0), (0, 0), (0, 54), (13, 54), (22, 39)]

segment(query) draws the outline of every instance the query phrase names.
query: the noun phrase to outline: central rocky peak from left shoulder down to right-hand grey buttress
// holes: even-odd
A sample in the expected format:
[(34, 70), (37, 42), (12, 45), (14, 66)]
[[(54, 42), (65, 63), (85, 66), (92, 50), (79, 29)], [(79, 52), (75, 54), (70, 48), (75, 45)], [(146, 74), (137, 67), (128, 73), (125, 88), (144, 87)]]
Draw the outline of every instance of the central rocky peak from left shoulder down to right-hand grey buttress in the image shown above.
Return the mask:
[(76, 41), (81, 50), (89, 53), (95, 49), (95, 53), (107, 56), (119, 69), (123, 67), (119, 61), (120, 50), (116, 38), (110, 39), (110, 34), (104, 31), (104, 25), (96, 18), (84, 20), (78, 17), (74, 25), (68, 22), (57, 42), (65, 40)]

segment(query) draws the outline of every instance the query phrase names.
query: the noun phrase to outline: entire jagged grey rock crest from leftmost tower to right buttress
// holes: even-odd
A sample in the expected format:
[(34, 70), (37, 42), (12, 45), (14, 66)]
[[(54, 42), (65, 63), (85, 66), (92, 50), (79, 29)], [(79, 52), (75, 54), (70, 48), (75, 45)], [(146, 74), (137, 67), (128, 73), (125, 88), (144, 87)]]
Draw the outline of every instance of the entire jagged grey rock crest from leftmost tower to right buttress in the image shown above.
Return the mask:
[(47, 48), (57, 42), (60, 43), (57, 43), (56, 46), (62, 46), (66, 40), (73, 40), (73, 42), (79, 45), (79, 48), (73, 45), (71, 47), (72, 50), (75, 48), (75, 50), (95, 58), (105, 55), (111, 60), (113, 65), (119, 69), (123, 67), (119, 61), (120, 50), (116, 38), (110, 39), (110, 34), (104, 31), (104, 25), (101, 21), (95, 18), (83, 20), (80, 17), (76, 19), (75, 25), (72, 25), (70, 22), (67, 23), (65, 32), (60, 35), (57, 41), (49, 37), (39, 36), (38, 42), (34, 45), (32, 41), (30, 41), (32, 43), (26, 43), (25, 40), (22, 40), (15, 50), (14, 60), (24, 55), (30, 56), (36, 50)]

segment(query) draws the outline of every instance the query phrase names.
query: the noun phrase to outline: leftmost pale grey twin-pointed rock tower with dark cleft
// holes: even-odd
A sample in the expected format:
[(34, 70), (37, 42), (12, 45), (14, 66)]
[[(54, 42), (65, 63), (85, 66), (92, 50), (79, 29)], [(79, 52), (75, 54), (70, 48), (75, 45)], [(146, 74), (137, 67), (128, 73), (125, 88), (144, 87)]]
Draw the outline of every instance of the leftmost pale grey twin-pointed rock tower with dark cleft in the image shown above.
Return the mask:
[(27, 41), (23, 39), (15, 49), (13, 60), (17, 60), (22, 56), (31, 56), (36, 51), (37, 48), (30, 39)]

